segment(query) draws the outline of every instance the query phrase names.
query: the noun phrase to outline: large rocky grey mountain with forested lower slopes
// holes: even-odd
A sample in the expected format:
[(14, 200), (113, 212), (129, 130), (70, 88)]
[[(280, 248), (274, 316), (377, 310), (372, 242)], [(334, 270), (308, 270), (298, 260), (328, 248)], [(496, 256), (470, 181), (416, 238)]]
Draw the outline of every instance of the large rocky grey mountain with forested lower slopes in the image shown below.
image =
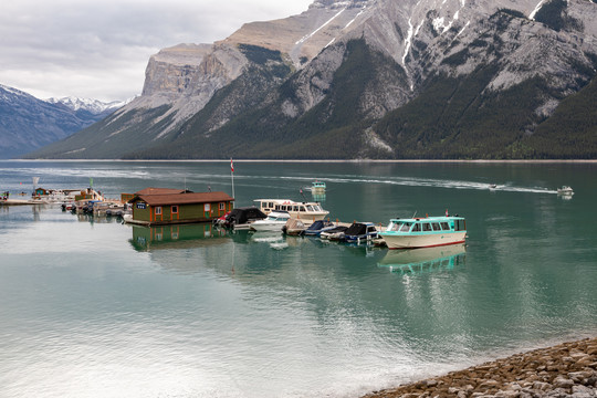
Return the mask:
[(595, 157), (596, 17), (588, 0), (318, 0), (160, 51), (140, 97), (31, 157)]

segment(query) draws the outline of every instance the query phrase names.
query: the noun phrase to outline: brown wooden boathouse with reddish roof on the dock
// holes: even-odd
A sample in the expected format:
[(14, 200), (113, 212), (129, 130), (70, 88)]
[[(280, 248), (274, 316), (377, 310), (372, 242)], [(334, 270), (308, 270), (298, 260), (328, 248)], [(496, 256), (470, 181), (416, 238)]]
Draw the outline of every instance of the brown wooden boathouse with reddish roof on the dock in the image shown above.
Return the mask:
[(226, 192), (146, 188), (128, 201), (133, 207), (129, 221), (144, 226), (208, 222), (232, 210), (233, 201)]

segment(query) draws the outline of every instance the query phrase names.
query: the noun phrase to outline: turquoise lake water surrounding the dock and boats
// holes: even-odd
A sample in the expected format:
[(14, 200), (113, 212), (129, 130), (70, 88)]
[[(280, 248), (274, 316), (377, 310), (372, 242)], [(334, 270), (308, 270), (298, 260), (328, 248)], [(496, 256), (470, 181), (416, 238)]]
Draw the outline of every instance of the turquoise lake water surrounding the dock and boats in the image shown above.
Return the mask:
[[(234, 163), (237, 206), (467, 218), (464, 247), (140, 228), (0, 206), (0, 396), (359, 397), (597, 334), (597, 164)], [(232, 192), (229, 163), (0, 161), (0, 191)], [(496, 184), (498, 189), (489, 189)], [(556, 188), (569, 185), (565, 199)], [(312, 199), (311, 193), (305, 196)]]

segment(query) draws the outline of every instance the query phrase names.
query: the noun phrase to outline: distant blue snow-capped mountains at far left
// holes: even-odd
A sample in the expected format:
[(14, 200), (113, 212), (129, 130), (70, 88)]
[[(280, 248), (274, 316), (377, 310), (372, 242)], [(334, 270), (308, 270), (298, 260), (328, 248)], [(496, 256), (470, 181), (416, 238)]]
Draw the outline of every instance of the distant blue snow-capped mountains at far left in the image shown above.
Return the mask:
[(0, 85), (0, 158), (13, 158), (61, 140), (113, 113), (124, 103), (35, 98)]

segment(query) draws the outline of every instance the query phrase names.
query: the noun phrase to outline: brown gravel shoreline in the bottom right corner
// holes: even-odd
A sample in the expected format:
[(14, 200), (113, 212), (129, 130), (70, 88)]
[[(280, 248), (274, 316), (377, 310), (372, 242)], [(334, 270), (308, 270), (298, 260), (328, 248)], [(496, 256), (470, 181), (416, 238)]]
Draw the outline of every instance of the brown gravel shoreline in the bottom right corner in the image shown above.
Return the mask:
[(597, 337), (451, 371), (364, 398), (597, 397)]

